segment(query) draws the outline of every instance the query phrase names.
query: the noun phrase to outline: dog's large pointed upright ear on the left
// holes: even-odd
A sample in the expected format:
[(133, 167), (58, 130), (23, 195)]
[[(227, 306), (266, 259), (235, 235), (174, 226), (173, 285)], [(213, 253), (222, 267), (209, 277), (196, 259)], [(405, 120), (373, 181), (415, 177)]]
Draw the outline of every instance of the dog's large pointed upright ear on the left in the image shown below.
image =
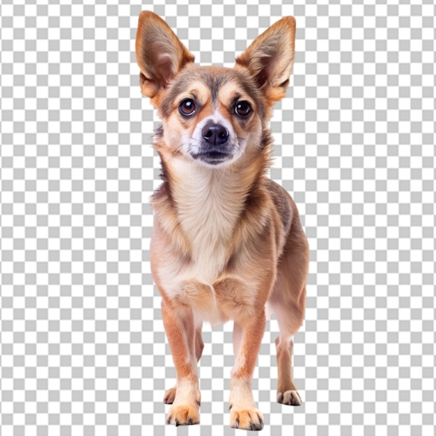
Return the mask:
[(161, 17), (143, 10), (137, 31), (137, 63), (141, 93), (153, 98), (188, 62), (194, 62), (185, 45)]

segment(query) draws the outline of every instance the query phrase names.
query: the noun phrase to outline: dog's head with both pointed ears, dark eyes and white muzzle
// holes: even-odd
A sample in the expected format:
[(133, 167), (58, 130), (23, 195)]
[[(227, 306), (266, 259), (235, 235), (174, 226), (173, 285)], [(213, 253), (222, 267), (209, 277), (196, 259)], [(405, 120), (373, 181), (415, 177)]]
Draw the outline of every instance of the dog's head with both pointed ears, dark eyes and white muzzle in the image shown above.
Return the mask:
[(272, 105), (286, 94), (294, 63), (295, 18), (284, 17), (236, 59), (234, 68), (194, 65), (164, 20), (139, 15), (136, 41), (141, 93), (164, 127), (159, 153), (225, 166), (262, 149)]

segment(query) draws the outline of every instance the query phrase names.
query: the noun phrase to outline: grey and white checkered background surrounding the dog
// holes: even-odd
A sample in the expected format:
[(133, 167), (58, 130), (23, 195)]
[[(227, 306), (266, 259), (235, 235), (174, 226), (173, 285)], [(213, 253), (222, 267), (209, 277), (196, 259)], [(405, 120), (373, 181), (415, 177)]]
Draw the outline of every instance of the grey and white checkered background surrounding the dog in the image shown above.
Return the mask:
[(159, 120), (134, 56), (147, 8), (198, 62), (228, 66), (297, 18), (271, 176), (311, 245), (304, 404), (275, 403), (271, 320), (254, 380), (263, 434), (433, 435), (433, 1), (2, 0), (1, 436), (241, 433), (227, 427), (231, 323), (205, 327), (201, 425), (164, 424), (175, 373), (148, 254)]

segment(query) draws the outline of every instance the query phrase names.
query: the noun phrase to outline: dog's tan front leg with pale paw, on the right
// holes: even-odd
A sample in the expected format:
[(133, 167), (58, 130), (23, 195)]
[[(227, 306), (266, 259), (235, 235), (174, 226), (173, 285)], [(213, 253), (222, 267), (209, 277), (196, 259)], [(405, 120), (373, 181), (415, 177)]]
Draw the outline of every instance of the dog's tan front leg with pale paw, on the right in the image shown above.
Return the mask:
[(245, 430), (262, 430), (263, 416), (254, 403), (251, 382), (265, 330), (265, 312), (262, 311), (259, 316), (247, 318), (243, 322), (235, 321), (233, 328), (235, 366), (231, 372), (228, 400), (230, 425)]

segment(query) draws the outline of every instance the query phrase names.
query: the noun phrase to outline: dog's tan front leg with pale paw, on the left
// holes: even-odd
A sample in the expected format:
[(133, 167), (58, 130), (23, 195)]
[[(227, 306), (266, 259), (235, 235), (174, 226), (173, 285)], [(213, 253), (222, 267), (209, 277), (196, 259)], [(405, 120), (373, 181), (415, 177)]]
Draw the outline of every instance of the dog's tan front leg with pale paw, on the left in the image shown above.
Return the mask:
[(162, 301), (162, 319), (176, 366), (176, 398), (166, 422), (176, 426), (200, 422), (195, 328), (192, 309)]

